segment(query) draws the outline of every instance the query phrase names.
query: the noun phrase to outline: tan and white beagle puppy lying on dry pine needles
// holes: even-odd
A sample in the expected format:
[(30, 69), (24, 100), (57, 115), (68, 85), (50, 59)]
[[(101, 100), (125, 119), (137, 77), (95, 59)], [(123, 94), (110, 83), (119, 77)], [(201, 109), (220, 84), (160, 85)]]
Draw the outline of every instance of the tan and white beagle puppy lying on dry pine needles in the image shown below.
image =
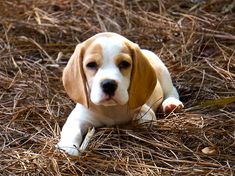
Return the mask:
[(183, 108), (159, 57), (116, 33), (99, 33), (78, 44), (62, 79), (77, 103), (57, 144), (70, 155), (79, 155), (90, 127), (154, 120), (159, 107), (164, 113)]

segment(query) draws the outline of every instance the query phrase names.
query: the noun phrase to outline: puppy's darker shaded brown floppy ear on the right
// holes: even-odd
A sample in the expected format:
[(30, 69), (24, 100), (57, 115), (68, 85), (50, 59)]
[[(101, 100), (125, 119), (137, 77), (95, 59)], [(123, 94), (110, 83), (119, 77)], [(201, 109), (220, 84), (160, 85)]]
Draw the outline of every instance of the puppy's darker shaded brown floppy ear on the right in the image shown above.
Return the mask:
[(131, 50), (133, 62), (128, 104), (131, 109), (134, 109), (142, 106), (149, 99), (156, 86), (157, 77), (139, 46), (128, 43), (128, 48)]

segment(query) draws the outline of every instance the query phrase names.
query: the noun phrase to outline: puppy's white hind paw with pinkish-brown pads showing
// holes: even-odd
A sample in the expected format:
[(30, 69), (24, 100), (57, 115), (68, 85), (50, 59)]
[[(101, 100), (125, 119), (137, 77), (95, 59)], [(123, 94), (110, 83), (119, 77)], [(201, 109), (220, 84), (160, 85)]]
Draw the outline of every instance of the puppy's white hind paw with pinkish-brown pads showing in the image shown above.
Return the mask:
[(183, 103), (175, 97), (169, 97), (162, 103), (162, 109), (164, 113), (170, 113), (172, 111), (179, 111), (184, 107)]

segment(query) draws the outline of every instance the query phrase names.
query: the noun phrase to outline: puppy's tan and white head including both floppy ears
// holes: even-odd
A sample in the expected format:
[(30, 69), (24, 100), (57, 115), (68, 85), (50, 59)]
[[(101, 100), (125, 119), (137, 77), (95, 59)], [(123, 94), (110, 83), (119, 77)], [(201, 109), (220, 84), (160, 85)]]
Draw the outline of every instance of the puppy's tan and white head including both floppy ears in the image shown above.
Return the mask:
[(115, 33), (100, 33), (81, 44), (63, 72), (66, 92), (89, 106), (142, 106), (155, 88), (155, 72), (139, 46)]

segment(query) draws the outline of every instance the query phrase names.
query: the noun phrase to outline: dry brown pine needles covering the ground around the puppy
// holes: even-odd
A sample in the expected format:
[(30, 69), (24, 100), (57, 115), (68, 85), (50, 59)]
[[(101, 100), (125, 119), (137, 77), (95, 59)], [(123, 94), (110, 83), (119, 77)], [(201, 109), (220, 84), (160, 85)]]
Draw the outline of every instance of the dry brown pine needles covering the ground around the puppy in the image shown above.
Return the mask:
[[(234, 12), (232, 0), (2, 0), (0, 173), (234, 175)], [(74, 106), (61, 72), (74, 46), (102, 31), (158, 53), (186, 108), (152, 124), (96, 129), (72, 158), (54, 148)]]

